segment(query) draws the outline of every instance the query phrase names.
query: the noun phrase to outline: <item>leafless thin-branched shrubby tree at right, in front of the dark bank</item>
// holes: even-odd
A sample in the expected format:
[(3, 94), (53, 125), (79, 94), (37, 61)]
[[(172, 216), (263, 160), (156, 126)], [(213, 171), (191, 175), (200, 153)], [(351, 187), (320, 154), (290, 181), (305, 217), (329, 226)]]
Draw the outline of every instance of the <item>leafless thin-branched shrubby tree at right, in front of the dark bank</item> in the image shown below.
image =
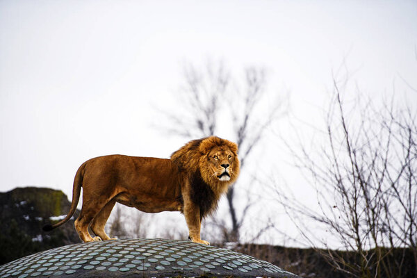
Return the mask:
[[(336, 270), (352, 277), (417, 277), (416, 269), (405, 268), (411, 254), (417, 265), (416, 113), (395, 108), (392, 100), (376, 108), (360, 94), (344, 101), (345, 84), (334, 80), (325, 143), (312, 149), (287, 143), (318, 209), (281, 188), (279, 202)], [(350, 255), (332, 250), (311, 224), (320, 224)]]

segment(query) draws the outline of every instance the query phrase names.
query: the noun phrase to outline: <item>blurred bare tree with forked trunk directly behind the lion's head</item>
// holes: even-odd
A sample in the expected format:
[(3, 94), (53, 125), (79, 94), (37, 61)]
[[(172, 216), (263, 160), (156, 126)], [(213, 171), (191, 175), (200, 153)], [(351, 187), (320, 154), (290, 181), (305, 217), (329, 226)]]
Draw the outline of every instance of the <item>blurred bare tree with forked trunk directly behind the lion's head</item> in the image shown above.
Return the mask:
[[(282, 112), (278, 102), (270, 111), (260, 109), (265, 96), (265, 70), (249, 67), (244, 71), (243, 81), (232, 77), (223, 63), (207, 63), (204, 70), (186, 65), (183, 74), (183, 113), (177, 111), (168, 115), (171, 122), (168, 131), (186, 138), (196, 138), (213, 136), (224, 125), (230, 125), (234, 131), (231, 140), (238, 143), (240, 165), (241, 168), (245, 167), (247, 158), (259, 145), (265, 130)], [(242, 211), (237, 213), (235, 190), (236, 185), (231, 186), (227, 193), (231, 229), (227, 228), (224, 220), (214, 220), (214, 224), (222, 230), (225, 241), (239, 240), (240, 227), (252, 205), (252, 201), (248, 200)]]

